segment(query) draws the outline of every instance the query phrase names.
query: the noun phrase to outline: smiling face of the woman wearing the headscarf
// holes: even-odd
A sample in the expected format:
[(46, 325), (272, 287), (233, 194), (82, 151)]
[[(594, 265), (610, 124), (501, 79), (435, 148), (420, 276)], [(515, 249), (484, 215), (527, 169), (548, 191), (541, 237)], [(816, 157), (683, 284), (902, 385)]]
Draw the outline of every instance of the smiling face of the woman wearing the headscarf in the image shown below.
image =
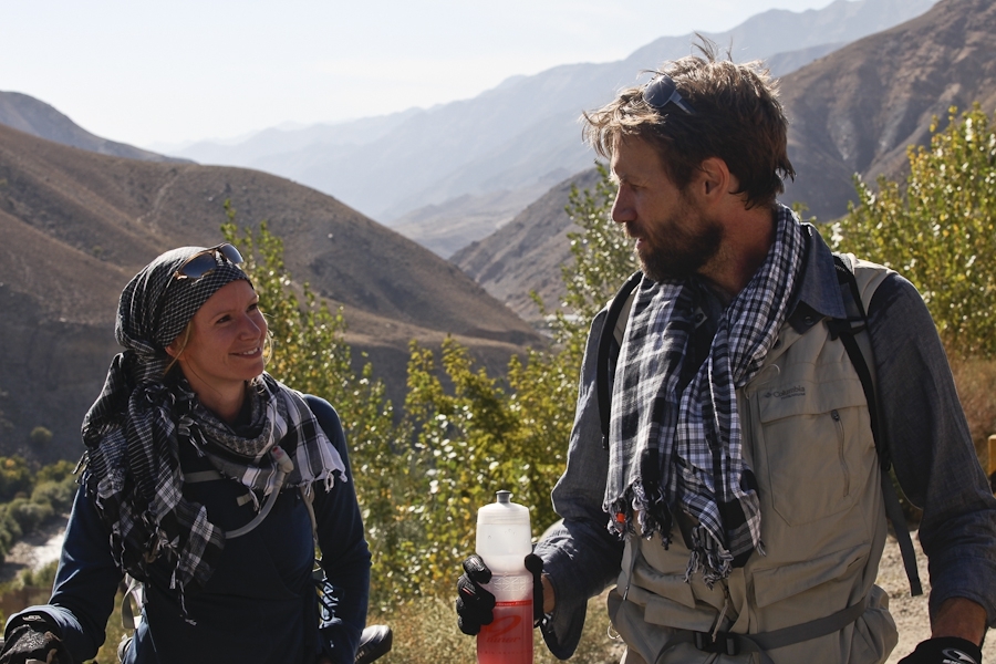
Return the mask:
[(241, 395), (245, 382), (262, 373), (267, 321), (258, 302), (248, 281), (222, 286), (194, 314), (187, 345), (181, 333), (166, 349), (201, 402)]

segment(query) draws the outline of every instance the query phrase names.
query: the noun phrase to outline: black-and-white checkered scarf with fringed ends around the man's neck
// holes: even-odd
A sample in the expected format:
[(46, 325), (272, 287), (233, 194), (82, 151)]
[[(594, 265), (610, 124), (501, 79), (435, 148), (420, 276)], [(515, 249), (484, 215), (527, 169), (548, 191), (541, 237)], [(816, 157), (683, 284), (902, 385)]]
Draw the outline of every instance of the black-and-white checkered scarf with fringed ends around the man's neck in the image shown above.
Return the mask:
[[(699, 279), (644, 278), (616, 364), (610, 466), (603, 508), (620, 537), (660, 532), (671, 541), (672, 513), (694, 518), (686, 578), (712, 585), (743, 564), (760, 540), (760, 509), (744, 461), (736, 390), (760, 370), (787, 315), (803, 236), (778, 206), (775, 245), (718, 321), (709, 355), (683, 391), (683, 363), (697, 324)], [(736, 561), (736, 562), (735, 562)]]

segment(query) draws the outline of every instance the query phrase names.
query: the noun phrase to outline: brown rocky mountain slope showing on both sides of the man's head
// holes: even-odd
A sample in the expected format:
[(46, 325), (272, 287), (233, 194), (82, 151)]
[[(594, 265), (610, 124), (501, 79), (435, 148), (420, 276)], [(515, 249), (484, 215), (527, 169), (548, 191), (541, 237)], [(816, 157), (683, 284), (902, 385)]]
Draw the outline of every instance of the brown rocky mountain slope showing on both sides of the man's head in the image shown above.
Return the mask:
[[(906, 146), (930, 137), (933, 115), (974, 101), (996, 108), (996, 4), (942, 0), (926, 14), (868, 37), (781, 79), (798, 173), (781, 197), (829, 220), (854, 197), (852, 174), (868, 181), (903, 176)], [(594, 169), (558, 185), (494, 235), (453, 256), (496, 298), (536, 319), (530, 289), (556, 301), (559, 269), (570, 259), (572, 228), (563, 207), (570, 181), (593, 181)], [(518, 294), (517, 294), (518, 293)]]

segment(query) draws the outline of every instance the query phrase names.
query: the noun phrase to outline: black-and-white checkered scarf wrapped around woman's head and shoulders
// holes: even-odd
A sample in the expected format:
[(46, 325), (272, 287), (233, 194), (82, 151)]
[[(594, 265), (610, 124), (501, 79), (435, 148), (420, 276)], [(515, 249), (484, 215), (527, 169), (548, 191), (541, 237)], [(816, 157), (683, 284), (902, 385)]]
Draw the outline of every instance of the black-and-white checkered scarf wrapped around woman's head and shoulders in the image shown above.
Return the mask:
[[(263, 373), (249, 383), (250, 423), (238, 435), (205, 408), (177, 370), (166, 375), (165, 349), (222, 286), (246, 279), (216, 256), (200, 279), (175, 279), (200, 247), (159, 256), (125, 287), (115, 335), (125, 347), (111, 363), (101, 395), (83, 419), (87, 464), (84, 486), (111, 530), (111, 551), (123, 572), (147, 579), (147, 566), (164, 557), (170, 585), (184, 606), (184, 590), (210, 578), (225, 547), (224, 531), (203, 505), (183, 496), (180, 445), (191, 444), (224, 476), (261, 495), (276, 488), (269, 453), (293, 449), (294, 470), (284, 486), (331, 488), (345, 480), (338, 450), (302, 396)], [(221, 454), (218, 454), (218, 453)], [(186, 612), (186, 609), (184, 609)], [(189, 619), (189, 618), (188, 618)]]

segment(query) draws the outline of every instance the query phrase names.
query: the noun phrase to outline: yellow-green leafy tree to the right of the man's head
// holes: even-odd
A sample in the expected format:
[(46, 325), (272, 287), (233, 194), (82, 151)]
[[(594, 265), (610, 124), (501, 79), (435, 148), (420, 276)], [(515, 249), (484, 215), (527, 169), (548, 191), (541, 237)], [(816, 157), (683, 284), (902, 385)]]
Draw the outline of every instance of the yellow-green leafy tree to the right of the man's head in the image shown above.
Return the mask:
[(833, 225), (836, 249), (901, 272), (923, 294), (955, 359), (996, 357), (996, 134), (975, 105), (910, 148), (905, 186), (860, 180), (858, 205)]

